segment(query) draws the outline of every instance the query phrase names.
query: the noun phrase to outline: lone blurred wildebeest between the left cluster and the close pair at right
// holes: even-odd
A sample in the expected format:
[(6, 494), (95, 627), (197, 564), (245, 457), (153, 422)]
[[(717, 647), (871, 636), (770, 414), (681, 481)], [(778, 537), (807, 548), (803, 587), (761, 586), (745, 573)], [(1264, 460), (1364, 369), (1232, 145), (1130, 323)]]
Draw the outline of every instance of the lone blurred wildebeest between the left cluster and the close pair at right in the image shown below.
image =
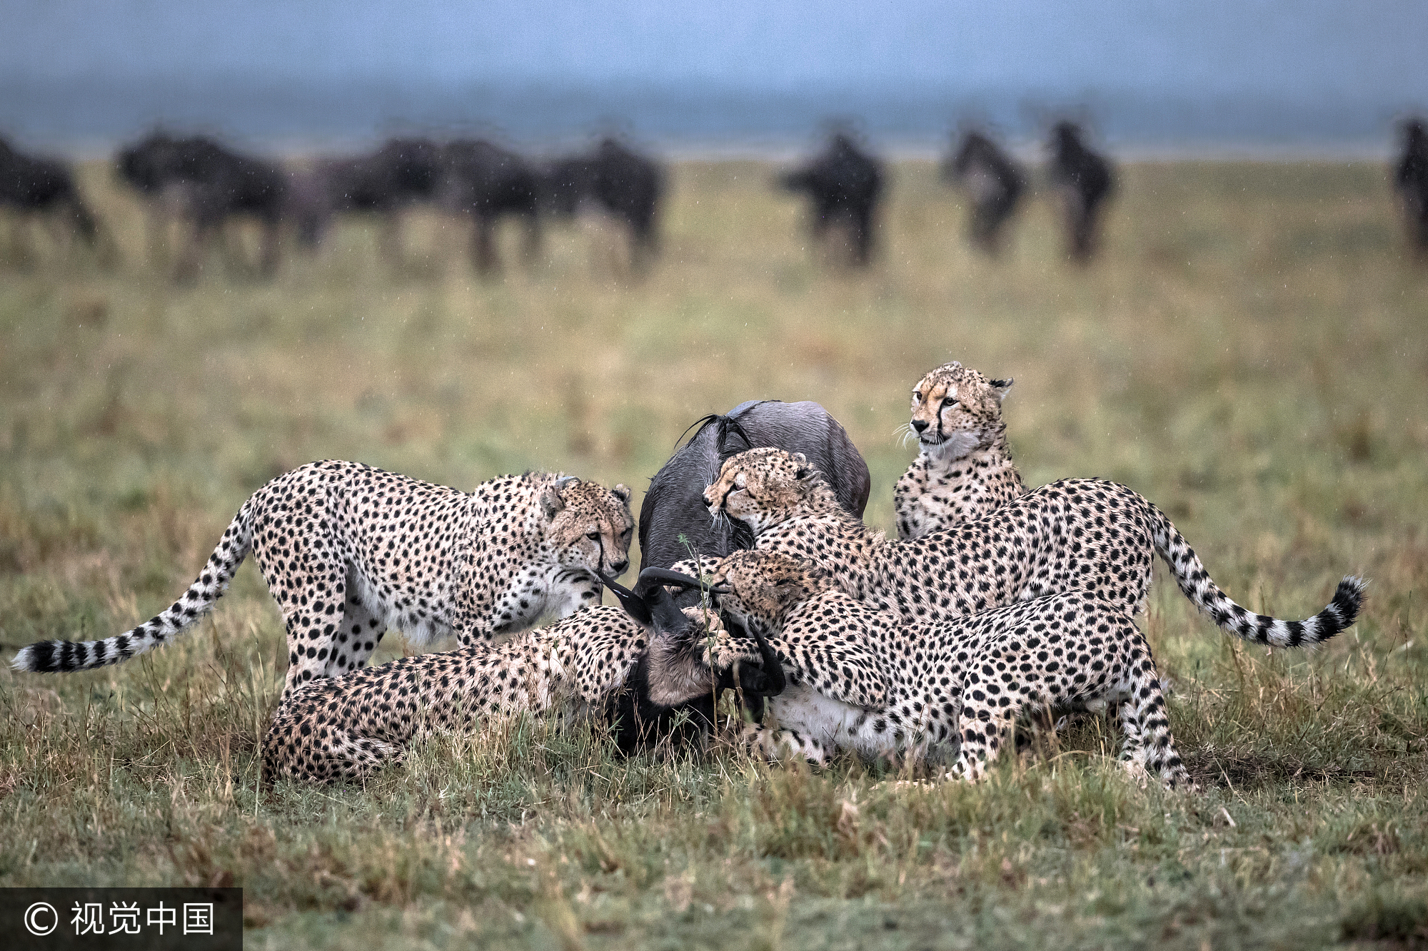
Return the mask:
[(828, 228), (844, 230), (853, 264), (873, 260), (873, 224), (883, 194), (883, 163), (837, 133), (817, 158), (783, 177), (784, 188), (807, 191), (813, 201), (811, 231), (823, 241)]

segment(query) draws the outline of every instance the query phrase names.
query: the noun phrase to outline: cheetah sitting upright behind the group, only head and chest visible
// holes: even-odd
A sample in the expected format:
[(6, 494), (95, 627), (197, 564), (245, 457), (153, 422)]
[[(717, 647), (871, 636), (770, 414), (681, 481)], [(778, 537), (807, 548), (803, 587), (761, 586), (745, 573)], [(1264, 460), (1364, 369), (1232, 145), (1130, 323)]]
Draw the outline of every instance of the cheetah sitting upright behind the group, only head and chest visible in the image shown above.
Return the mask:
[(957, 361), (918, 380), (907, 430), (918, 453), (892, 491), (898, 538), (975, 521), (1027, 493), (1001, 421), (1011, 383)]

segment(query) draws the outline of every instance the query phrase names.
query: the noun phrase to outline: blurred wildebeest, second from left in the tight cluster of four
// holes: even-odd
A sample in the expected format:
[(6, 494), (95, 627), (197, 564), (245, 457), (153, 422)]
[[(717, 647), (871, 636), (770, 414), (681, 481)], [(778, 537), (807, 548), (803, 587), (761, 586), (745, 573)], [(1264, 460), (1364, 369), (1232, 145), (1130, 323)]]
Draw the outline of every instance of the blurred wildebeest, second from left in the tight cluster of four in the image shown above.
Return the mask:
[(446, 173), (441, 146), (430, 139), (388, 139), (366, 156), (320, 158), (293, 176), (288, 216), (306, 247), (321, 243), (334, 216), (378, 216), (378, 244), (388, 261), (401, 251), (401, 213), (437, 197)]

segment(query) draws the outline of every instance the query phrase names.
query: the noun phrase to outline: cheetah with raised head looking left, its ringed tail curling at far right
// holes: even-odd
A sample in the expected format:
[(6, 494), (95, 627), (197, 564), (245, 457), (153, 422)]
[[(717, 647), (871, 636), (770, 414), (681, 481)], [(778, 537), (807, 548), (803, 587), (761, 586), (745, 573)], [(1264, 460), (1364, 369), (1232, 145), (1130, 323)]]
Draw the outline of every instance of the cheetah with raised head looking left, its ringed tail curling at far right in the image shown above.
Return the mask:
[(1259, 644), (1327, 640), (1354, 621), (1364, 593), (1364, 583), (1348, 577), (1307, 621), (1255, 614), (1215, 585), (1160, 508), (1098, 478), (1064, 478), (977, 521), (907, 541), (888, 541), (848, 515), (805, 461), (783, 450), (730, 458), (704, 500), (715, 518), (747, 524), (754, 548), (811, 561), (853, 597), (911, 623), (1074, 590), (1134, 615), (1144, 608), (1155, 553), (1197, 608)]

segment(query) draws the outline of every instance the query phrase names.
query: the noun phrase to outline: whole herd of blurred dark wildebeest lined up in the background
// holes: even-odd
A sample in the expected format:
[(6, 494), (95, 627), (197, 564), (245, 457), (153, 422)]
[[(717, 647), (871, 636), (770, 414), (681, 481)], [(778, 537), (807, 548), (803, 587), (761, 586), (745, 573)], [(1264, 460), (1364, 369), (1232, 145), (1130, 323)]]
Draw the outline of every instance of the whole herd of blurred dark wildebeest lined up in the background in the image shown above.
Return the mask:
[[(1401, 131), (1394, 187), (1414, 253), (1428, 261), (1428, 131), (1421, 119), (1404, 121)], [(1047, 154), (1044, 181), (1060, 204), (1067, 257), (1085, 264), (1097, 251), (1115, 168), (1071, 121), (1051, 129)], [(520, 223), (524, 257), (534, 261), (545, 224), (595, 211), (625, 231), (630, 270), (638, 274), (658, 253), (668, 178), (658, 160), (613, 137), (557, 157), (523, 156), (484, 139), (396, 137), (366, 154), (280, 163), (208, 136), (163, 130), (121, 147), (114, 171), (144, 203), (151, 263), (159, 264), (177, 228), (178, 247), (164, 264), (177, 280), (193, 278), (214, 243), (224, 241), (226, 226), (241, 218), (261, 228), (257, 271), (264, 276), (278, 268), (284, 233), (311, 253), (340, 216), (377, 218), (378, 253), (396, 264), (403, 256), (403, 214), (417, 207), (470, 220), (478, 274), (501, 267), (496, 233), (503, 218)], [(995, 257), (1027, 197), (1028, 170), (985, 130), (972, 129), (958, 136), (941, 174), (970, 206), (970, 243)], [(778, 184), (807, 196), (813, 240), (833, 260), (848, 267), (871, 263), (877, 213), (888, 188), (883, 161), (865, 144), (834, 131), (820, 154), (780, 176)], [(79, 241), (110, 264), (117, 260), (117, 246), (63, 160), (26, 154), (0, 139), (0, 207), (19, 214), (19, 227), (33, 218), (60, 241)]]

